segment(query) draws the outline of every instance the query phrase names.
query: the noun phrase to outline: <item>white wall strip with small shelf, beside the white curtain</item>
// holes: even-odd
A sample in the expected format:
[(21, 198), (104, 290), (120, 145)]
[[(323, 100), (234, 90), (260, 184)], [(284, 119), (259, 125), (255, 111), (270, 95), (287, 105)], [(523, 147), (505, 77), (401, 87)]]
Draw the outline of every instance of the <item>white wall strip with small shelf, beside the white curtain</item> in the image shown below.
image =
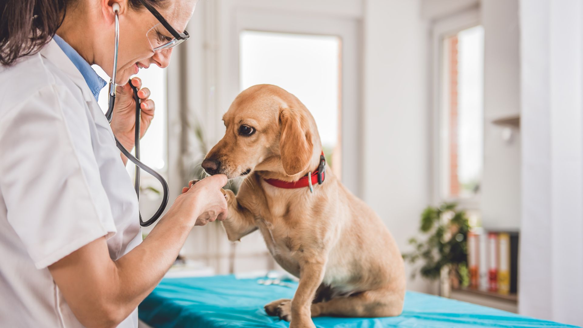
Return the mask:
[(505, 142), (491, 121), (520, 113), (518, 0), (481, 3), (484, 26), (484, 228), (520, 226), (520, 134)]

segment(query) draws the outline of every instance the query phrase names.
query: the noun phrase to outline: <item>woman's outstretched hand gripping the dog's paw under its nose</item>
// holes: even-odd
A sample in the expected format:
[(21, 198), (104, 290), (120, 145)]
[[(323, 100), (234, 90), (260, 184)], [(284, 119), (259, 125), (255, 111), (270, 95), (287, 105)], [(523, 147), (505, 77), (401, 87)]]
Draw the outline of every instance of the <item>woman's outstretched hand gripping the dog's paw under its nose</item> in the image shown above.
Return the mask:
[(206, 225), (215, 219), (223, 221), (227, 218), (227, 200), (221, 191), (225, 184), (225, 175), (205, 177), (194, 186), (191, 181), (182, 189), (168, 213), (175, 208), (173, 215), (188, 217), (194, 225)]

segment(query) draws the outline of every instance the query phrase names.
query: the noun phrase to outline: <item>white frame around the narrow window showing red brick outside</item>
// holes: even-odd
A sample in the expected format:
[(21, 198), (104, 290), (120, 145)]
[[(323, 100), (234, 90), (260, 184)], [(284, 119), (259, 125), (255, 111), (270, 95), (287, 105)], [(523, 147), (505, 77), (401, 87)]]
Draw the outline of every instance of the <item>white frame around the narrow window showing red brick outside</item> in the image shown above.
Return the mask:
[[(472, 197), (448, 197), (445, 196), (444, 190), (444, 170), (447, 168), (445, 164), (444, 152), (442, 151), (443, 138), (447, 137), (444, 129), (445, 118), (445, 100), (444, 99), (444, 40), (462, 30), (481, 25), (479, 8), (472, 8), (468, 11), (455, 13), (445, 18), (437, 20), (431, 27), (431, 65), (432, 65), (432, 109), (431, 109), (431, 123), (433, 125), (433, 133), (431, 134), (432, 142), (432, 163), (431, 169), (432, 188), (431, 198), (434, 204), (447, 202), (455, 202), (460, 207), (467, 210), (479, 210), (480, 208), (480, 194)], [(447, 162), (449, 163), (449, 162)]]

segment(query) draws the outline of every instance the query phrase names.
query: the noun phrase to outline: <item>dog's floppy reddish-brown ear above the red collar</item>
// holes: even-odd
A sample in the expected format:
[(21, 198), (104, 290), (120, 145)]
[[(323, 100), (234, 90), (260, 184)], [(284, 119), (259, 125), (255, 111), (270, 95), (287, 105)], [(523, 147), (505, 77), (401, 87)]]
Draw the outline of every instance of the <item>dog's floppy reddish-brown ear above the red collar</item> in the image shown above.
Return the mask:
[(279, 112), (279, 122), (281, 126), (279, 149), (283, 169), (287, 175), (297, 175), (310, 165), (312, 134), (307, 120), (303, 121), (301, 114), (293, 108), (282, 108)]

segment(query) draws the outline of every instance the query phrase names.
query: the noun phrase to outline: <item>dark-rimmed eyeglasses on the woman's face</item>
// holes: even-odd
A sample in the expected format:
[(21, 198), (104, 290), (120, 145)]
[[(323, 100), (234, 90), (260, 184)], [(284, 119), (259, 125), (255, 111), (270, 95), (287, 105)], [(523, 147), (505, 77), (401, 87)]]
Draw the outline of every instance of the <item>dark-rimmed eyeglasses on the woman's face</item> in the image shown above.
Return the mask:
[[(147, 38), (150, 41), (150, 46), (154, 53), (159, 53), (162, 50), (170, 49), (172, 47), (181, 44), (182, 42), (188, 40), (190, 37), (188, 32), (184, 31), (182, 33), (178, 32), (168, 23), (166, 19), (148, 2), (144, 0), (138, 0), (142, 3), (146, 9), (154, 15), (154, 17), (160, 22), (147, 32)], [(169, 37), (170, 34), (173, 37)]]

